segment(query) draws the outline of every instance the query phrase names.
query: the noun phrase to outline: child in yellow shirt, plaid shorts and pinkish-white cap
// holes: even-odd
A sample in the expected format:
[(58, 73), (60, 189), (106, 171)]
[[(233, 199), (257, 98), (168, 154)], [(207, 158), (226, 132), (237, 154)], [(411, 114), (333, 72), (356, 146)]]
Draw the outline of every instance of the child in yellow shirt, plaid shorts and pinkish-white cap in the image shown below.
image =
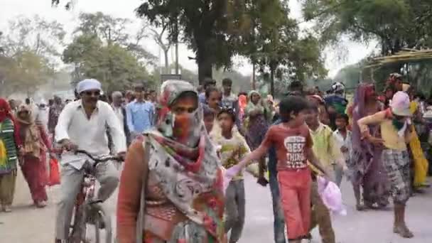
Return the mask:
[[(394, 201), (393, 232), (404, 238), (414, 237), (405, 223), (405, 207), (409, 200), (411, 186), (409, 154), (406, 147), (412, 135), (409, 105), (409, 96), (399, 91), (393, 96), (388, 109), (357, 121), (365, 139), (375, 146), (384, 146), (382, 160), (392, 186)], [(369, 134), (367, 126), (369, 124), (379, 124), (382, 139)]]

